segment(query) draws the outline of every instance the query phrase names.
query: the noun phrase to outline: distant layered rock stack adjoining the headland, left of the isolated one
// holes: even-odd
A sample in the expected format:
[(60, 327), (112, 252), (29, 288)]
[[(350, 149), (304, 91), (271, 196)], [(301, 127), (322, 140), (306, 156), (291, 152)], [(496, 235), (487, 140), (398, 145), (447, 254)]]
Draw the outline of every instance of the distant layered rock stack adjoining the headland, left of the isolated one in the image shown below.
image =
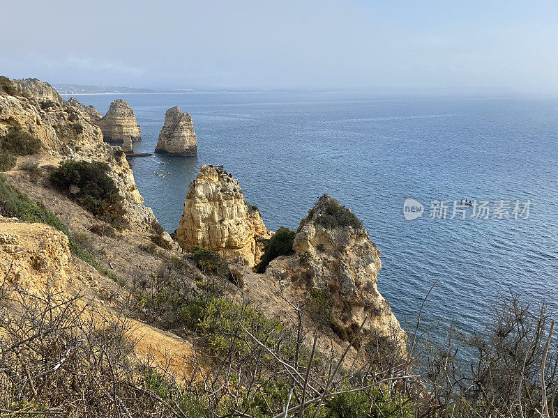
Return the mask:
[(132, 141), (140, 141), (142, 128), (137, 125), (134, 111), (126, 100), (116, 99), (110, 104), (107, 114), (100, 121), (95, 122), (103, 131), (105, 141), (123, 142), (124, 137), (131, 137)]

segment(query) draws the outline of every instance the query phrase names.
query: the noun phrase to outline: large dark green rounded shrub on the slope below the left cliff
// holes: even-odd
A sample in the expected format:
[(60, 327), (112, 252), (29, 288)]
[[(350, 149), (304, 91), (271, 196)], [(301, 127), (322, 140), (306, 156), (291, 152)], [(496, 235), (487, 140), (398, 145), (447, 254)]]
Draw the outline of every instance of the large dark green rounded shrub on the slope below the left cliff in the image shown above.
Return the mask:
[(66, 161), (52, 171), (50, 180), (80, 206), (121, 230), (127, 222), (122, 198), (107, 174), (109, 169), (104, 162)]

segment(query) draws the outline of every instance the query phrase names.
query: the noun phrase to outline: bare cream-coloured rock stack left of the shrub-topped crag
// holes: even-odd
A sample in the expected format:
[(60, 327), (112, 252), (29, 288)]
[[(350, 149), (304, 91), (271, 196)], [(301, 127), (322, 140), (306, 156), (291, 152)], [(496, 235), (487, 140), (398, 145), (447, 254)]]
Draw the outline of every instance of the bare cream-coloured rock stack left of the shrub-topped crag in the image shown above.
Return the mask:
[(175, 238), (183, 249), (199, 246), (227, 258), (259, 263), (262, 244), (269, 238), (261, 215), (245, 200), (239, 182), (221, 168), (204, 165), (188, 187)]

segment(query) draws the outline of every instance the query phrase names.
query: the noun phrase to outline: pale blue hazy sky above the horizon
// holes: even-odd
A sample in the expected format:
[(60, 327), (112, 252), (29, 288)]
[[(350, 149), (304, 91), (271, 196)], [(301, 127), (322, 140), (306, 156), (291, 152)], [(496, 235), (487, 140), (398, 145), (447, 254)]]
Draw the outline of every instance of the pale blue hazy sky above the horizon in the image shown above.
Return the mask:
[(54, 84), (558, 91), (558, 1), (2, 4), (0, 74)]

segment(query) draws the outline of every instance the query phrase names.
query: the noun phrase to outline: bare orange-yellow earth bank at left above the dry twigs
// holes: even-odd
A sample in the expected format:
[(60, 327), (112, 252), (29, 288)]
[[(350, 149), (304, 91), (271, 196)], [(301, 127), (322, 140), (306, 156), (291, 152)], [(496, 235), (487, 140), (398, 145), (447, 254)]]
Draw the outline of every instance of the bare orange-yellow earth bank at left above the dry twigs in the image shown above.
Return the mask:
[[(22, 315), (18, 332), (26, 330), (25, 325), (36, 325), (35, 321), (24, 319), (26, 311), (21, 309), (20, 302), (24, 295), (37, 295), (40, 301), (51, 295), (59, 306), (75, 300), (75, 304), (70, 305), (76, 309), (73, 314), (80, 315), (83, 321), (96, 321), (100, 327), (107, 320), (125, 321), (128, 325), (122, 327), (122, 331), (127, 341), (135, 341), (134, 352), (142, 362), (171, 366), (177, 376), (193, 371), (187, 359), (193, 357), (195, 350), (189, 341), (131, 318), (119, 318), (119, 302), (127, 300), (129, 293), (73, 256), (66, 235), (45, 224), (29, 224), (1, 216), (0, 231), (2, 291), (7, 295), (20, 295), (3, 297), (2, 309), (7, 308), (12, 318)], [(49, 312), (56, 317), (56, 309)], [(104, 323), (106, 326), (107, 322)], [(37, 328), (26, 331), (29, 335), (40, 332)]]

